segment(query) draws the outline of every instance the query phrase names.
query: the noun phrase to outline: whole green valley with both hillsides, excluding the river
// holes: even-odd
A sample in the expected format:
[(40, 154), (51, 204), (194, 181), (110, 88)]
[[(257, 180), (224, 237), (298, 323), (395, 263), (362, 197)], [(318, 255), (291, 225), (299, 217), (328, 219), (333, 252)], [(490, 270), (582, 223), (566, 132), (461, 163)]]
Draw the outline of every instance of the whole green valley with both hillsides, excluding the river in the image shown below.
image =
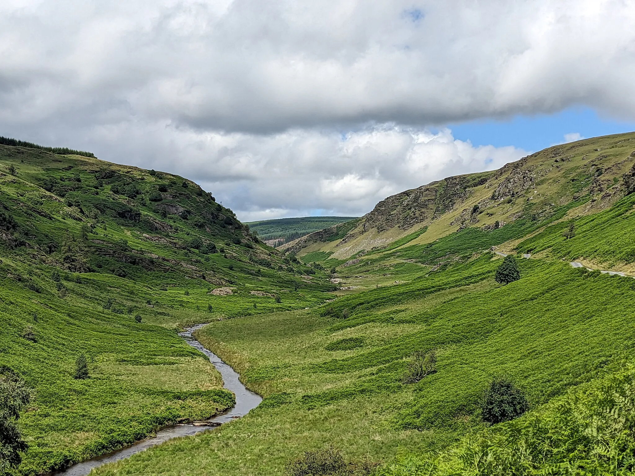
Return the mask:
[[(231, 408), (178, 336), (194, 324), (262, 402), (91, 474), (633, 470), (635, 133), (408, 190), (279, 249), (196, 183), (72, 152), (0, 145), (0, 369), (35, 392), (10, 474)], [(518, 280), (496, 281), (503, 255)], [(492, 423), (497, 379), (527, 409)]]

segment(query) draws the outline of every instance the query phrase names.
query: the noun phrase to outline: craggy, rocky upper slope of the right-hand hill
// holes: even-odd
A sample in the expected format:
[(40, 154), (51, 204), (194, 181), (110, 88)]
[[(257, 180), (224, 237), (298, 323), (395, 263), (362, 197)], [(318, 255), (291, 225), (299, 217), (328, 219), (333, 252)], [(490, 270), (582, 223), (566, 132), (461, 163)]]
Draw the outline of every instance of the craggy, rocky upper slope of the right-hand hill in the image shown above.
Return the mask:
[(635, 133), (585, 139), (495, 171), (451, 176), (387, 197), (354, 227), (330, 227), (281, 249), (309, 260), (312, 253), (318, 253), (316, 259), (345, 260), (394, 248), (396, 242), (431, 244), (462, 230), (481, 249), (511, 243), (553, 216), (567, 220), (597, 213), (631, 193), (634, 143)]

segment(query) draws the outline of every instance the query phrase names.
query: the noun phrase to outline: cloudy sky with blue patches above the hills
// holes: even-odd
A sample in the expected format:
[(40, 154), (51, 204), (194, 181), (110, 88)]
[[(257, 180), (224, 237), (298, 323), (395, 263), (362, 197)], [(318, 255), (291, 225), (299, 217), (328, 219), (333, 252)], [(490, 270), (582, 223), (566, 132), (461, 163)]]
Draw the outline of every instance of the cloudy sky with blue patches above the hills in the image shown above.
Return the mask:
[(3, 0), (0, 135), (185, 176), (243, 221), (635, 130), (635, 0)]

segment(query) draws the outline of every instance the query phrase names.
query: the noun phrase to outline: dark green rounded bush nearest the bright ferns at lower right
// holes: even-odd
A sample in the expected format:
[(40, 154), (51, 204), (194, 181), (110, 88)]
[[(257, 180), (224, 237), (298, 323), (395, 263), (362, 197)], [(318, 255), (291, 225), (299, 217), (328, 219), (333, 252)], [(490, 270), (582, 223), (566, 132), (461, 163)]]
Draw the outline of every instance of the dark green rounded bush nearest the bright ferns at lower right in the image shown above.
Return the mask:
[(483, 421), (500, 423), (514, 420), (529, 409), (525, 393), (507, 378), (495, 378), (483, 393), (481, 416)]

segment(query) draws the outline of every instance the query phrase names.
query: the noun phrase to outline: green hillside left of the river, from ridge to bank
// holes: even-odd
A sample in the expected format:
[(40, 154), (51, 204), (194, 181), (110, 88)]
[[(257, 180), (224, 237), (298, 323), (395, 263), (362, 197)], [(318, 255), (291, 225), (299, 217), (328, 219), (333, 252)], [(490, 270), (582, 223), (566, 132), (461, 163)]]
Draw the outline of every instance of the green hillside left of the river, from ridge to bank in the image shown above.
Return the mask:
[[(327, 277), (182, 177), (0, 145), (0, 369), (36, 391), (17, 473), (231, 406), (178, 327), (319, 305)], [(73, 378), (81, 353), (87, 380)]]

